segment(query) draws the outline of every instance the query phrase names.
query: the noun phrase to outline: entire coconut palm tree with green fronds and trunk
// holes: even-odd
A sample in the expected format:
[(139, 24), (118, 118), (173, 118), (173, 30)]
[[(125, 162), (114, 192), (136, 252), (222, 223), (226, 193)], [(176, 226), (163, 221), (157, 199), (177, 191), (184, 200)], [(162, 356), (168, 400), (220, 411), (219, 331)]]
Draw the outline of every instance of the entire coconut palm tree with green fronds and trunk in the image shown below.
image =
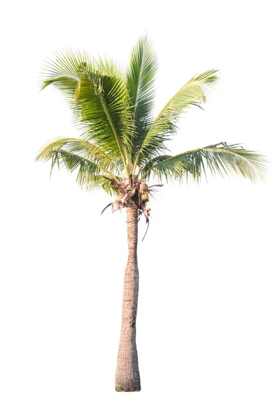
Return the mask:
[(162, 186), (163, 180), (200, 181), (207, 172), (239, 174), (255, 182), (263, 179), (265, 172), (262, 155), (239, 144), (212, 144), (170, 154), (167, 141), (174, 139), (179, 118), (190, 106), (201, 107), (206, 102), (218, 76), (216, 70), (209, 70), (191, 78), (155, 117), (157, 66), (153, 46), (145, 36), (134, 46), (125, 71), (112, 59), (62, 50), (46, 62), (41, 83), (42, 89), (54, 85), (64, 94), (81, 134), (80, 139), (53, 141), (36, 159), (50, 160), (51, 171), (57, 165), (76, 172), (80, 186), (102, 188), (114, 197), (105, 209), (125, 208), (127, 213), (128, 260), (116, 391), (141, 389), (136, 345), (138, 221), (143, 214), (148, 223), (154, 187)]

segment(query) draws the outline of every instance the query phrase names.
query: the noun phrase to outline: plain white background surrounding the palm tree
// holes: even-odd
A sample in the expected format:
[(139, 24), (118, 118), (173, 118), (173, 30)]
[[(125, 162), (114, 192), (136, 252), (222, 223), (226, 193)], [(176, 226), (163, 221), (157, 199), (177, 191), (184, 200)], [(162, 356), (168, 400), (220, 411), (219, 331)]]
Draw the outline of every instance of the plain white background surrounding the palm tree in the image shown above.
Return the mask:
[[(32, 1), (2, 10), (1, 347), (3, 420), (279, 420), (279, 22), (276, 1)], [(77, 136), (62, 97), (38, 92), (64, 46), (127, 63), (146, 31), (158, 52), (156, 109), (195, 73), (221, 69), (173, 151), (241, 142), (266, 183), (165, 186), (139, 243), (142, 391), (114, 374), (125, 215), (75, 176), (35, 163)], [(144, 234), (141, 221), (140, 239)]]

